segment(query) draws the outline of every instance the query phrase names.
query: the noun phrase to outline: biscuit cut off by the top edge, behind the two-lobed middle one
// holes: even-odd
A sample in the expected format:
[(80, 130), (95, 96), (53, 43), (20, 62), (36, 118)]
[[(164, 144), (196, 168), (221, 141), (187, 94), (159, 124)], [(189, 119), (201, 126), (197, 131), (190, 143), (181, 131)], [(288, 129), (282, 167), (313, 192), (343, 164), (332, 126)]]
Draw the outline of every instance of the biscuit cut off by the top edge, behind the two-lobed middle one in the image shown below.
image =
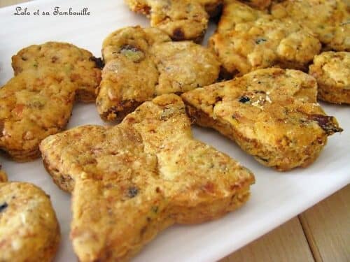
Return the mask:
[[(137, 13), (151, 17), (151, 26), (174, 41), (202, 41), (209, 15), (218, 14), (222, 0), (125, 0)], [(207, 9), (207, 10), (206, 10)]]

